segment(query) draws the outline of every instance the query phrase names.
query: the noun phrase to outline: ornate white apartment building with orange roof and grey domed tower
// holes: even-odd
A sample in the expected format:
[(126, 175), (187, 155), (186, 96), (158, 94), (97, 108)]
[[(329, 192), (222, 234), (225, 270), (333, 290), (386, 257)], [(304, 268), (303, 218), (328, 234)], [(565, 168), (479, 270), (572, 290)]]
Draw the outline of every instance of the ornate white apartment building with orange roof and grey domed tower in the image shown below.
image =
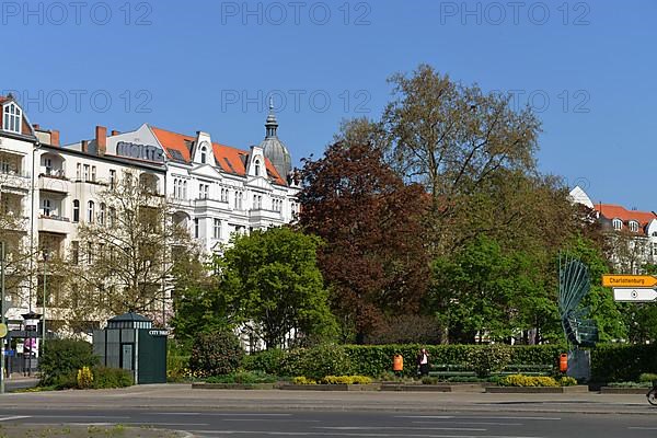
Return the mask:
[(295, 219), (299, 181), (277, 128), (270, 112), (265, 139), (249, 151), (214, 142), (207, 132), (188, 136), (148, 124), (110, 136), (104, 128), (96, 128), (101, 129), (96, 139), (67, 149), (95, 151), (100, 141), (105, 157), (163, 164), (162, 189), (172, 204), (174, 221), (186, 223), (191, 235), (211, 253), (220, 251), (234, 232), (278, 227)]

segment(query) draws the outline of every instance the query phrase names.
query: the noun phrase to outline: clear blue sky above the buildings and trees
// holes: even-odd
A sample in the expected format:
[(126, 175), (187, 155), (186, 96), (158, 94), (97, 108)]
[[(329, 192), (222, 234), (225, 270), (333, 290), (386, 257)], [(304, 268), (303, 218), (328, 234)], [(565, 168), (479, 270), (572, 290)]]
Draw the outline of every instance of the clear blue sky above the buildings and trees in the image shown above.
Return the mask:
[(427, 62), (533, 104), (542, 171), (657, 210), (656, 16), (650, 0), (3, 1), (0, 89), (66, 142), (148, 122), (240, 148), (264, 137), (274, 94), (298, 163)]

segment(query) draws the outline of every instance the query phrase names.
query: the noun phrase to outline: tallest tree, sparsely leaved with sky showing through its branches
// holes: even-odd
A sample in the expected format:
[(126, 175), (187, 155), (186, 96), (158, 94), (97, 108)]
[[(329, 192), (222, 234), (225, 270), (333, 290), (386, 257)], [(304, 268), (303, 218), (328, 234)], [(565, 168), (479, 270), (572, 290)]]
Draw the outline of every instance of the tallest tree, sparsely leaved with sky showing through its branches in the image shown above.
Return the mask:
[(390, 162), (430, 194), (434, 253), (449, 254), (462, 245), (464, 230), (486, 232), (488, 223), (469, 220), (473, 194), (502, 171), (535, 170), (540, 123), (529, 108), (511, 108), (508, 95), (456, 82), (427, 65), (390, 82), (394, 97), (381, 120)]

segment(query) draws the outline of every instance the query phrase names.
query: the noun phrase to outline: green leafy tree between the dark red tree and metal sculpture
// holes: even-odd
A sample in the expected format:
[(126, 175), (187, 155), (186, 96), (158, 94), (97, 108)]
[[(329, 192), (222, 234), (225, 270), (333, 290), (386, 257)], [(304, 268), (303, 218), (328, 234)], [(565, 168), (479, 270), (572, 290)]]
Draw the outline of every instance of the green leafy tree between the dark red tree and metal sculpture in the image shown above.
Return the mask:
[(472, 343), (476, 334), (503, 341), (531, 328), (539, 342), (554, 337), (556, 297), (545, 289), (534, 265), (531, 255), (505, 252), (485, 235), (453, 258), (436, 258), (430, 300), (449, 341)]

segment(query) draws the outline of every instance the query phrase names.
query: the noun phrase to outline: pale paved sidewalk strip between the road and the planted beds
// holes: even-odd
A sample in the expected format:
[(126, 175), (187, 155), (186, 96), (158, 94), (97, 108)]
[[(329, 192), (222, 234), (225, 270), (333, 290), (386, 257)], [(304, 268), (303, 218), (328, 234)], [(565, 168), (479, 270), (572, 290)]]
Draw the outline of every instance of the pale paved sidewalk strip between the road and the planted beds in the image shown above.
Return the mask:
[(645, 395), (598, 393), (480, 394), (422, 392), (319, 392), (193, 390), (188, 384), (153, 384), (120, 390), (7, 394), (0, 408), (53, 407), (158, 411), (390, 411), (506, 412), (657, 415)]

